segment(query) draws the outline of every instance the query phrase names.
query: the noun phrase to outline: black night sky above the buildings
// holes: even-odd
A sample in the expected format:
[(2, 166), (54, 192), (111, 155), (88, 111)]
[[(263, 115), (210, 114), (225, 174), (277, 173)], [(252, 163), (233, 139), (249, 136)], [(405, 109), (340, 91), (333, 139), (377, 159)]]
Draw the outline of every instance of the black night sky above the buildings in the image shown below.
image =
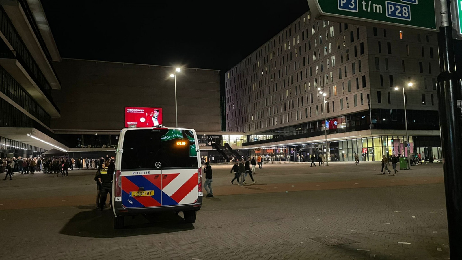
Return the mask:
[(220, 69), (308, 11), (306, 0), (42, 0), (61, 57)]

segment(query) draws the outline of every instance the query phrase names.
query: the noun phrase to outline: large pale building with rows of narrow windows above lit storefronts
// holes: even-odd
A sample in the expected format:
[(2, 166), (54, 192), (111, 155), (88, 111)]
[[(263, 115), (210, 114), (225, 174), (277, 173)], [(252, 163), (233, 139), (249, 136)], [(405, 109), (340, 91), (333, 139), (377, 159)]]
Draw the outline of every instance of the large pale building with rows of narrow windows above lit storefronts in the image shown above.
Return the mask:
[(245, 132), (249, 154), (380, 161), (407, 155), (406, 102), (411, 151), (439, 159), (438, 71), (435, 33), (307, 12), (225, 74), (226, 128)]

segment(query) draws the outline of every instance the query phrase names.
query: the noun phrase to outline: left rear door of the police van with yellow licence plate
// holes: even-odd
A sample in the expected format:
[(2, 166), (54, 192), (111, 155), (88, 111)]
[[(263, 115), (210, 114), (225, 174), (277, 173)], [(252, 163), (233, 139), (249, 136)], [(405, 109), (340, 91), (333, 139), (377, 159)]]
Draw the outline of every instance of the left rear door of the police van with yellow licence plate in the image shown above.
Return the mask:
[(160, 130), (130, 129), (125, 132), (121, 160), (123, 207), (162, 205), (160, 138)]

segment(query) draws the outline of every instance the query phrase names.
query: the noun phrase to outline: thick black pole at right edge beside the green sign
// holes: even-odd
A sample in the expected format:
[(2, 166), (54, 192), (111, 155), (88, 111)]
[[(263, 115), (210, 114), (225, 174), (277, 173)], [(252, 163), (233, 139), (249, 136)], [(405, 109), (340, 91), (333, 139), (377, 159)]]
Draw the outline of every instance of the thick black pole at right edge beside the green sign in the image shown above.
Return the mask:
[(457, 100), (462, 100), (462, 82), (456, 73), (450, 1), (440, 0), (442, 26), (438, 33), (438, 105), (443, 153), (444, 188), (451, 259), (462, 259), (462, 119)]

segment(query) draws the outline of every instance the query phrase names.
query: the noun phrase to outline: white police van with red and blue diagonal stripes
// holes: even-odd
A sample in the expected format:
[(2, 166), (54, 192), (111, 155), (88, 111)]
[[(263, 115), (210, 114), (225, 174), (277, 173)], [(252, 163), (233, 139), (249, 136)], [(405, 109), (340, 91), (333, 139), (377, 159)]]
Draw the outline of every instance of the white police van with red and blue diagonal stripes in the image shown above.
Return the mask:
[(122, 129), (112, 182), (114, 228), (125, 216), (183, 212), (194, 223), (202, 203), (201, 160), (193, 129)]

